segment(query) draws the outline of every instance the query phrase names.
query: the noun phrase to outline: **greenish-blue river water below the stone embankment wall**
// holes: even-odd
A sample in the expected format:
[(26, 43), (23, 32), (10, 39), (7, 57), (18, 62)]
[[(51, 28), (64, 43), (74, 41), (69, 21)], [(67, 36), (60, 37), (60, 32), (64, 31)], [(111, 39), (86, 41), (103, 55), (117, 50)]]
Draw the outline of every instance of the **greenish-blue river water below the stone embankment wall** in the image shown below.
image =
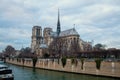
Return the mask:
[(62, 73), (6, 64), (13, 70), (15, 80), (118, 80), (114, 78)]

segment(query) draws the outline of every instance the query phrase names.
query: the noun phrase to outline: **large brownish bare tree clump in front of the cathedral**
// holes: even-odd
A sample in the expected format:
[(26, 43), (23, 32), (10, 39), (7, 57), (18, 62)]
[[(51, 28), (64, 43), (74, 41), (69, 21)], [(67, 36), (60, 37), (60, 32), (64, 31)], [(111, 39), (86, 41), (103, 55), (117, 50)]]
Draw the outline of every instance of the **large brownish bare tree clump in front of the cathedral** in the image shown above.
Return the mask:
[(79, 51), (78, 39), (68, 42), (65, 38), (57, 37), (49, 46), (49, 53), (52, 57), (76, 57)]

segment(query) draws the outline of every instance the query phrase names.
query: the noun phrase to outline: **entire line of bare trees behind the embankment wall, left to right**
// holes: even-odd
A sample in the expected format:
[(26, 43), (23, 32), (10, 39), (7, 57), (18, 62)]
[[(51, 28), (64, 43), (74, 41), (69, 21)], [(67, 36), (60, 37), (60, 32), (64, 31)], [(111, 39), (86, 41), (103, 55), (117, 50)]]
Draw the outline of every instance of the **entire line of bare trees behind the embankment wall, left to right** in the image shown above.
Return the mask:
[[(102, 52), (101, 52), (102, 51)], [(89, 53), (81, 52), (81, 48), (78, 44), (78, 41), (71, 41), (70, 45), (66, 42), (65, 39), (55, 38), (54, 41), (49, 45), (48, 51), (43, 52), (42, 58), (74, 58), (74, 57), (110, 57), (114, 55), (115, 57), (120, 57), (119, 50), (108, 50), (105, 51), (105, 45), (96, 44), (93, 46), (93, 51)], [(18, 58), (33, 58), (38, 55), (35, 52), (32, 52), (30, 47), (21, 48), (16, 50), (13, 46), (8, 45), (0, 54), (0, 57), (18, 57)]]

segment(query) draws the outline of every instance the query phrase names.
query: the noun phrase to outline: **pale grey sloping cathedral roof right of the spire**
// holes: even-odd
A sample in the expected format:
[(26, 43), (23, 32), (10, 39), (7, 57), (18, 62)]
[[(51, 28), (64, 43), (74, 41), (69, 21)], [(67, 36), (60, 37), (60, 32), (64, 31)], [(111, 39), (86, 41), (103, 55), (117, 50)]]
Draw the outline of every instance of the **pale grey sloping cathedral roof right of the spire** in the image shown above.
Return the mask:
[(68, 30), (62, 31), (59, 36), (63, 37), (63, 36), (70, 36), (70, 35), (79, 35), (79, 34), (75, 30), (75, 28), (72, 28), (72, 29), (68, 29)]

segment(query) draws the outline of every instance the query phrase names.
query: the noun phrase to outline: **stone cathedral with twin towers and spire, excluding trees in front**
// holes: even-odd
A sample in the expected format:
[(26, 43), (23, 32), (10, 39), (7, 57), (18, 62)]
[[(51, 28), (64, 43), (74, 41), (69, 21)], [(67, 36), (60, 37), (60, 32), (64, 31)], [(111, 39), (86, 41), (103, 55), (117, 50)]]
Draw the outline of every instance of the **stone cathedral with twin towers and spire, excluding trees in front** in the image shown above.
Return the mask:
[[(64, 40), (64, 45), (62, 45), (62, 46), (64, 46), (64, 49), (66, 49), (66, 51), (69, 51), (71, 49), (70, 47), (71, 47), (71, 45), (74, 44), (73, 42), (77, 42), (77, 44), (80, 47), (79, 51), (92, 50), (91, 43), (83, 41), (80, 38), (80, 35), (78, 34), (78, 32), (76, 31), (75, 28), (61, 31), (59, 11), (58, 11), (58, 21), (57, 21), (56, 32), (54, 32), (52, 30), (52, 28), (46, 27), (46, 28), (44, 28), (43, 35), (42, 35), (42, 27), (34, 26), (32, 28), (32, 37), (31, 38), (32, 38), (32, 41), (31, 41), (32, 51), (34, 51), (40, 57), (42, 57), (44, 55), (44, 53), (48, 53), (47, 49), (49, 48), (51, 43), (56, 38)], [(74, 46), (74, 47), (76, 47), (76, 46)]]

